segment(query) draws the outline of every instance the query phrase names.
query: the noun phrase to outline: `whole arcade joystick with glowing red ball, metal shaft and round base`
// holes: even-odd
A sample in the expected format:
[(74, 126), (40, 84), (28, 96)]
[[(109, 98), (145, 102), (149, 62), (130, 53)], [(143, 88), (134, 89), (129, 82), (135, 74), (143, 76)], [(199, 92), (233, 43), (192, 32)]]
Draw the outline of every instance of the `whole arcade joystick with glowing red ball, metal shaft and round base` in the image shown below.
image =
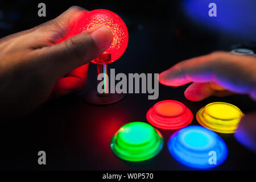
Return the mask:
[[(93, 105), (114, 104), (126, 96), (125, 93), (109, 93), (108, 64), (119, 59), (128, 44), (128, 31), (123, 20), (109, 10), (93, 10), (86, 13), (75, 26), (75, 35), (97, 26), (108, 27), (113, 34), (110, 47), (91, 62), (97, 64), (98, 75), (104, 73), (104, 92), (99, 93), (97, 88), (91, 89), (84, 95), (84, 101)], [(102, 88), (103, 88), (102, 87)]]

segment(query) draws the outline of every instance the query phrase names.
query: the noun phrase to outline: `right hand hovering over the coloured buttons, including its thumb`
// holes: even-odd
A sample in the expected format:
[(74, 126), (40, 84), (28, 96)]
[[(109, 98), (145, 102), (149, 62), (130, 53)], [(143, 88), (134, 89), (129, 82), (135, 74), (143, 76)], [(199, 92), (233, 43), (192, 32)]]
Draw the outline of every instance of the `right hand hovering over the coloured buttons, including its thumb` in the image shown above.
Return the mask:
[[(256, 101), (256, 56), (214, 52), (177, 63), (160, 73), (159, 82), (181, 86), (193, 82), (185, 90), (188, 100), (201, 101), (209, 96), (249, 94)], [(256, 112), (246, 113), (235, 137), (256, 151)]]

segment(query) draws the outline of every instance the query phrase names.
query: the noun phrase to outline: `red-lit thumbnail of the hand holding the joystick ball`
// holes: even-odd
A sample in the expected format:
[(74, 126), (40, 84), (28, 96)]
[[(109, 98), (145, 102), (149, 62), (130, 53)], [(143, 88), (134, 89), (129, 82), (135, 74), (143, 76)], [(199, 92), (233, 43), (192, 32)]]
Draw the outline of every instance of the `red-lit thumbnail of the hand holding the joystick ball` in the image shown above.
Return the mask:
[(107, 44), (110, 44), (113, 39), (112, 31), (108, 27), (100, 27), (97, 30), (90, 33), (96, 46), (102, 48)]

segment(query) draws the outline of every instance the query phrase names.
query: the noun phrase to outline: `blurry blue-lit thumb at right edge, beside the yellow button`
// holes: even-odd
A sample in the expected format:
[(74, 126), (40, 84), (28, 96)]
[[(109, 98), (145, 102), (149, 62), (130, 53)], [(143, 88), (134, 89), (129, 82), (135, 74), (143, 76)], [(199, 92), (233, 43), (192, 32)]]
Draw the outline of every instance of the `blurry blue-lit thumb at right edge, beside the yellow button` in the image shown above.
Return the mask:
[(238, 125), (234, 137), (243, 144), (256, 152), (256, 112), (246, 114)]

